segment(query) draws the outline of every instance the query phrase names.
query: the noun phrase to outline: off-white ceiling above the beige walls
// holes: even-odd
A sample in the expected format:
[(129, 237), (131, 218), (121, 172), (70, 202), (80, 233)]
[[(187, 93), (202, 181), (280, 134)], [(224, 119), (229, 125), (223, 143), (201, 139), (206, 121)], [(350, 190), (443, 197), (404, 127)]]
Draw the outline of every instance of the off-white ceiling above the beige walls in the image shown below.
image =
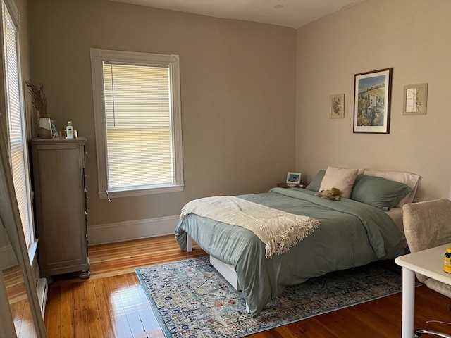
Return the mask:
[(111, 0), (187, 13), (299, 28), (366, 0)]

